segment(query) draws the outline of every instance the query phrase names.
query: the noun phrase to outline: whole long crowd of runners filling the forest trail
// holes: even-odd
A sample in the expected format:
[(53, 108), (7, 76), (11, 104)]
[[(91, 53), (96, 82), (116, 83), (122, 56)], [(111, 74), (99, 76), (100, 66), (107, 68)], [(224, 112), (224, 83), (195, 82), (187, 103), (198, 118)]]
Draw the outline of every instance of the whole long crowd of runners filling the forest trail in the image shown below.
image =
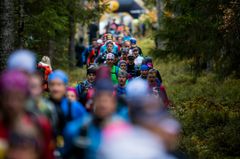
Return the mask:
[(49, 57), (11, 53), (0, 76), (0, 158), (184, 158), (159, 70), (127, 30), (111, 26), (82, 51), (86, 80), (76, 87)]

